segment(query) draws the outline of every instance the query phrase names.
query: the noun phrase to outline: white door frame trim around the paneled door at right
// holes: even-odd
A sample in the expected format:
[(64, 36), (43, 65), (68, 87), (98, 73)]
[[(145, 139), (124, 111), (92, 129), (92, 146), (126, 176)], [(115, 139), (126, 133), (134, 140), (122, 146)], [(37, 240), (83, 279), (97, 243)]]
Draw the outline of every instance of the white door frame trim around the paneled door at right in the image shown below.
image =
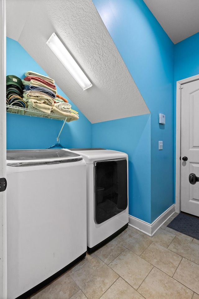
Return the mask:
[(181, 188), (181, 85), (199, 80), (199, 74), (176, 82), (176, 164), (175, 164), (175, 212), (180, 213)]

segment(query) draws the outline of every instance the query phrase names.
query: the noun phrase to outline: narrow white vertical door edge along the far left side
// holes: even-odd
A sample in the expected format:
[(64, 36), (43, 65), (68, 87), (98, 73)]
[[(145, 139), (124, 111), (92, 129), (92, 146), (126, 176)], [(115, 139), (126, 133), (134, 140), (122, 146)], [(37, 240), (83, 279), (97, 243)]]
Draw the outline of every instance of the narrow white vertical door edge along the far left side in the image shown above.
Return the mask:
[(0, 0), (0, 298), (7, 298), (6, 191), (6, 0)]

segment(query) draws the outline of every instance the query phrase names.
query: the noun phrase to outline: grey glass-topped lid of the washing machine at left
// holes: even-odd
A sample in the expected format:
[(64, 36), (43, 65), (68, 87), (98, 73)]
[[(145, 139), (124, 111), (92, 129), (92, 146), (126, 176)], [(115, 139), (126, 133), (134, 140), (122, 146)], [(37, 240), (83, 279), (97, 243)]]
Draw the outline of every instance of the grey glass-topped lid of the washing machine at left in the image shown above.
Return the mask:
[(31, 166), (80, 161), (80, 154), (63, 149), (7, 150), (8, 166)]

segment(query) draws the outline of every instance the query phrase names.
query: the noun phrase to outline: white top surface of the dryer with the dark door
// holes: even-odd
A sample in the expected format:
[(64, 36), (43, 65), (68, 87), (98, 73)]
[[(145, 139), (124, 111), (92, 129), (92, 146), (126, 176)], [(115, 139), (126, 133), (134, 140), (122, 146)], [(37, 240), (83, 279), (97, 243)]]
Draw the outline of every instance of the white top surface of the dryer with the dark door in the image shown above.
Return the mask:
[(105, 150), (98, 148), (91, 149), (70, 149), (73, 152), (80, 154), (86, 164), (93, 164), (96, 161), (106, 161), (113, 159), (128, 159), (128, 155), (126, 153), (117, 151), (117, 150)]

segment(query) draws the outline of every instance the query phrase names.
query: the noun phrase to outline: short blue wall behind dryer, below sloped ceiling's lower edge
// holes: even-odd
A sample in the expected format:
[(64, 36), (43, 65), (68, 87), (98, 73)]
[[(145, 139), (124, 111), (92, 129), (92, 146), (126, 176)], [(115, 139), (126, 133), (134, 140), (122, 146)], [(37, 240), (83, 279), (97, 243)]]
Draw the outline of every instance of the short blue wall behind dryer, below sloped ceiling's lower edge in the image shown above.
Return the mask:
[(93, 147), (128, 154), (129, 214), (150, 223), (150, 114), (96, 123), (92, 130)]

